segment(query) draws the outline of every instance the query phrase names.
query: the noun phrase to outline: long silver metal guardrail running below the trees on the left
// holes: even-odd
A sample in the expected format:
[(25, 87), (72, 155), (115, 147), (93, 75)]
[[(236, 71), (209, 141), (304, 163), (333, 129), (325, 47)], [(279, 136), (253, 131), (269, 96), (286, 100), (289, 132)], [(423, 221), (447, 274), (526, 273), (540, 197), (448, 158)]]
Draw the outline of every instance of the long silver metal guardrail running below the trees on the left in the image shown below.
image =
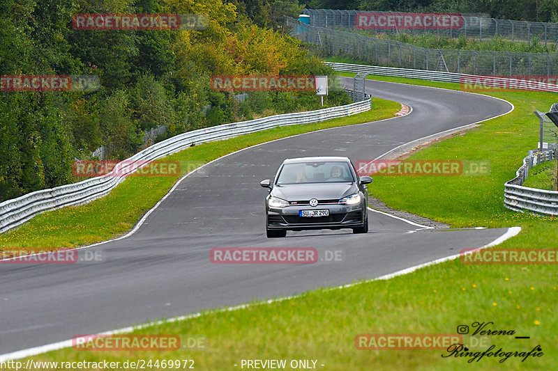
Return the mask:
[(126, 166), (129, 169), (128, 171), (126, 171), (124, 166), (116, 165), (112, 172), (107, 175), (52, 189), (42, 189), (0, 203), (0, 233), (20, 226), (22, 223), (33, 218), (33, 216), (43, 212), (70, 205), (89, 203), (92, 200), (107, 195), (127, 175), (136, 170), (133, 166), (129, 166), (130, 161), (141, 161), (144, 164), (145, 161), (172, 155), (197, 143), (228, 139), (241, 134), (259, 132), (260, 130), (278, 126), (318, 123), (319, 121), (331, 118), (368, 111), (371, 105), (370, 100), (363, 100), (345, 106), (319, 109), (317, 111), (285, 113), (256, 120), (197, 129), (173, 136), (165, 141), (151, 145), (151, 147), (138, 152), (129, 159), (123, 160), (120, 164), (128, 164)]

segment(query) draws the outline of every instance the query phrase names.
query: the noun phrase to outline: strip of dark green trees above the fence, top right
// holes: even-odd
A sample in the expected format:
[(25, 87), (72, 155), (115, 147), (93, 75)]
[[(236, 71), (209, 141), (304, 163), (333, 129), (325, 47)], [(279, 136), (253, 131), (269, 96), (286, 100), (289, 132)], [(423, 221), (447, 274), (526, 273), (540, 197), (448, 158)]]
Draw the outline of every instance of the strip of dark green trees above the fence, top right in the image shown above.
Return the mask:
[(488, 13), (492, 18), (558, 22), (558, 0), (308, 0), (311, 9)]

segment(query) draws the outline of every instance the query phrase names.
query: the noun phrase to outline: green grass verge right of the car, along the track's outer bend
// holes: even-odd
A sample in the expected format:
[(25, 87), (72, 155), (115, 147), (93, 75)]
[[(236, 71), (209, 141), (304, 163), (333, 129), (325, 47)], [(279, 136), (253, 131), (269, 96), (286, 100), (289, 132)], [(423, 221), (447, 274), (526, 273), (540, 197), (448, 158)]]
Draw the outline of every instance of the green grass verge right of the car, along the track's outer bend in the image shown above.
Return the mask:
[[(354, 74), (345, 74), (354, 76)], [(399, 77), (368, 77), (402, 84), (459, 90), (460, 85)], [(558, 246), (555, 235), (558, 219), (512, 212), (504, 207), (504, 182), (515, 177), (527, 151), (538, 143), (533, 111), (557, 101), (553, 93), (490, 93), (511, 102), (513, 112), (485, 121), (466, 134), (435, 143), (409, 159), (477, 159), (490, 161), (490, 175), (458, 177), (375, 176), (370, 194), (389, 206), (448, 223), (455, 228), (484, 226), (522, 227), (522, 233), (502, 246)], [(529, 180), (529, 177), (527, 178)], [(552, 245), (554, 244), (554, 245)]]

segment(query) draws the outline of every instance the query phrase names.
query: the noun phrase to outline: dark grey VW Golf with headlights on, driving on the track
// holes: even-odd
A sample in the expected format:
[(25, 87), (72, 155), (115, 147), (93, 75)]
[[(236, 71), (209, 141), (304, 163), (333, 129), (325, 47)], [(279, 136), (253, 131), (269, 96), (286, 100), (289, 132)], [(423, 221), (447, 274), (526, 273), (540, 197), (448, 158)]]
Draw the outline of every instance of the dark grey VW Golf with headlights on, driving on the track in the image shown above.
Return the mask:
[(371, 177), (359, 177), (347, 157), (286, 159), (275, 180), (259, 184), (266, 197), (267, 237), (285, 237), (287, 230), (352, 228), (368, 232)]

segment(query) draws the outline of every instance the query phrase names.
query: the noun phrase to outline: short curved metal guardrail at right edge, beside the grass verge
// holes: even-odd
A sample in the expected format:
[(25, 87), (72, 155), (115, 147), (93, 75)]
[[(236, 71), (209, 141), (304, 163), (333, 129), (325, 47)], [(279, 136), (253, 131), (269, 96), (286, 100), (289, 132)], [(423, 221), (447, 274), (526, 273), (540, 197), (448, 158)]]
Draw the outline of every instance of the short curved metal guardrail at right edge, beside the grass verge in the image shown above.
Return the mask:
[(523, 165), (515, 173), (517, 176), (504, 183), (505, 207), (516, 212), (558, 216), (558, 191), (522, 187), (531, 167), (551, 159), (555, 159), (554, 150), (536, 152), (523, 159)]

